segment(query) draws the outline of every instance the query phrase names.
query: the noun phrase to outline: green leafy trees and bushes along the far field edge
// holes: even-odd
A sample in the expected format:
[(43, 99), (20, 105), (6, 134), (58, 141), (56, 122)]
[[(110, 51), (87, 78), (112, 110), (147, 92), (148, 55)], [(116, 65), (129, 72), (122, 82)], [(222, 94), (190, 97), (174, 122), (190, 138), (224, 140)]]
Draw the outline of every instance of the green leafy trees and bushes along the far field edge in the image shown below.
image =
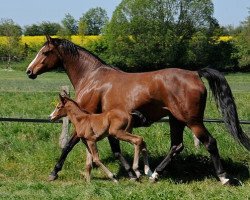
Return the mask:
[(18, 45), (21, 35), (67, 39), (71, 35), (102, 35), (87, 48), (126, 71), (249, 69), (250, 16), (236, 28), (221, 27), (213, 12), (212, 0), (123, 0), (111, 19), (100, 7), (88, 10), (79, 20), (66, 14), (61, 23), (42, 22), (23, 28), (11, 19), (2, 19), (0, 35), (10, 41), (6, 47), (0, 46), (0, 57), (12, 54), (15, 56), (6, 57), (27, 58), (29, 47)]

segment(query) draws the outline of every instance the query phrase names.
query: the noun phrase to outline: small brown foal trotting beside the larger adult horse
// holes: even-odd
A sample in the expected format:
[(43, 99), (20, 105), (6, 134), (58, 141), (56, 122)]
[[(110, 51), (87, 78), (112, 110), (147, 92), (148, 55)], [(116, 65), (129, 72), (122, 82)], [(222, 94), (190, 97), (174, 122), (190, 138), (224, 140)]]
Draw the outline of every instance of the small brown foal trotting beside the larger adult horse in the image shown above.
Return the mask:
[(139, 156), (141, 152), (144, 159), (145, 174), (149, 176), (152, 175), (148, 164), (146, 143), (143, 141), (141, 136), (132, 135), (129, 133), (131, 130), (132, 121), (130, 114), (121, 112), (118, 109), (113, 109), (101, 114), (88, 114), (81, 110), (78, 104), (69, 97), (61, 95), (59, 96), (60, 103), (50, 114), (50, 119), (55, 121), (67, 115), (70, 121), (74, 124), (77, 136), (81, 138), (84, 144), (87, 146), (85, 175), (88, 182), (90, 181), (92, 160), (107, 174), (111, 180), (117, 182), (117, 180), (114, 178), (114, 174), (101, 162), (96, 145), (97, 141), (108, 135), (134, 144), (135, 151), (133, 170), (137, 178), (139, 178), (141, 175), (138, 170)]

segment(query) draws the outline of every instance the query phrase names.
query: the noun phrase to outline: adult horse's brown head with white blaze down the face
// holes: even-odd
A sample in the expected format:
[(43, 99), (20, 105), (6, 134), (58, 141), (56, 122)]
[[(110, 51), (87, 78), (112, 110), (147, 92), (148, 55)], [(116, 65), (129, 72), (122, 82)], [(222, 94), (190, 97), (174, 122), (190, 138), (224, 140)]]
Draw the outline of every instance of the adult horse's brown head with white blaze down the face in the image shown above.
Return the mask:
[(50, 36), (46, 36), (46, 38), (47, 41), (26, 70), (27, 75), (31, 79), (35, 79), (39, 74), (62, 66), (62, 60), (58, 49), (62, 40), (51, 38)]

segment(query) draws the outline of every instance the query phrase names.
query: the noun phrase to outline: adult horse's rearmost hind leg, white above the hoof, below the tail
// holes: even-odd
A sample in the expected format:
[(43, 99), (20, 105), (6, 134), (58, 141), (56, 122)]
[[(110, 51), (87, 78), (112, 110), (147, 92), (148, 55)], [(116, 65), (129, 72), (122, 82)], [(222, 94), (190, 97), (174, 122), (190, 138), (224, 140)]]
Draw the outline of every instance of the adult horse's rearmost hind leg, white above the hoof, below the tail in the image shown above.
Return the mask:
[(216, 140), (210, 135), (210, 133), (205, 128), (202, 122), (188, 125), (188, 126), (193, 131), (195, 136), (204, 144), (207, 151), (210, 153), (211, 159), (215, 167), (216, 174), (219, 177), (221, 183), (223, 185), (230, 184), (230, 179), (227, 177), (227, 174), (221, 164)]

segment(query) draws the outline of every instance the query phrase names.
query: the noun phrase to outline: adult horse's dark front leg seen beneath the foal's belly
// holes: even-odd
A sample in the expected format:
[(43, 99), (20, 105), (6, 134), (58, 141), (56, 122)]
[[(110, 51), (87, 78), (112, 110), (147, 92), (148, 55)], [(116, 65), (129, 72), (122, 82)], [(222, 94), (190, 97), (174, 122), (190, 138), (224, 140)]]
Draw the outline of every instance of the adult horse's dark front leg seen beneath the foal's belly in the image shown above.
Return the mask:
[(108, 136), (108, 140), (109, 140), (109, 144), (110, 144), (111, 150), (115, 158), (121, 162), (122, 166), (125, 168), (126, 172), (128, 173), (129, 178), (131, 179), (136, 178), (132, 171), (131, 166), (128, 164), (127, 160), (123, 157), (121, 153), (120, 141), (112, 136)]

